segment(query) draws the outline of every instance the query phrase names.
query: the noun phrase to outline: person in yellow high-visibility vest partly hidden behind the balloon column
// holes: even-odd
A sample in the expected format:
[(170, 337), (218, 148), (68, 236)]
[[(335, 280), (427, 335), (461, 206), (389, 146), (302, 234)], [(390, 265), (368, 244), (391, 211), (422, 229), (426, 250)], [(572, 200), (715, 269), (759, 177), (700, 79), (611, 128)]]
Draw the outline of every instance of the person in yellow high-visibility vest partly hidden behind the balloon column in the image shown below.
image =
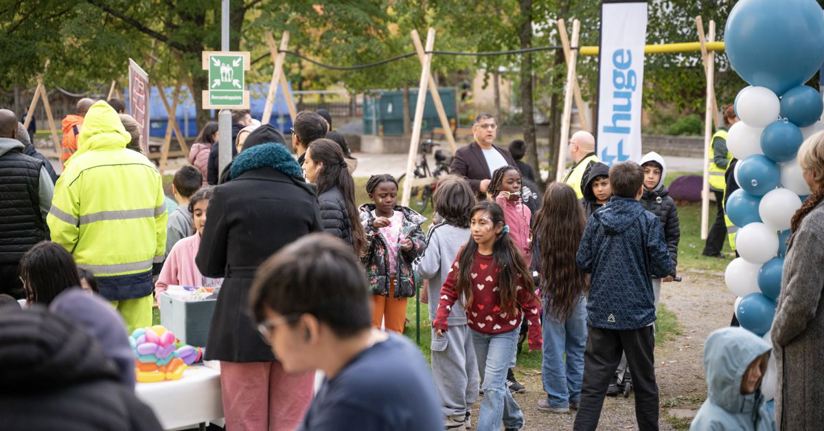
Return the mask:
[(722, 257), (721, 249), (727, 236), (727, 225), (724, 221), (724, 190), (726, 180), (724, 173), (732, 160), (732, 153), (727, 150), (727, 130), (738, 122), (738, 117), (732, 105), (724, 109), (724, 123), (726, 128), (718, 129), (712, 136), (709, 154), (709, 183), (710, 190), (715, 194), (715, 222), (710, 228), (707, 242), (704, 244), (704, 256)]

